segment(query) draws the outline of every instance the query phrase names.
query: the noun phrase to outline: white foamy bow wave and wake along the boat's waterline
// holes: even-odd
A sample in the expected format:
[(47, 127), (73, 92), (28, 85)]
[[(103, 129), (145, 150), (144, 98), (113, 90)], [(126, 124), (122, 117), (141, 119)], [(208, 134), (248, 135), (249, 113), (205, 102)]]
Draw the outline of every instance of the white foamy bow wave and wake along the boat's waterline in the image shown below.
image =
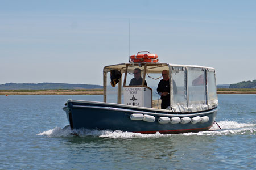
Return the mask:
[[(183, 133), (183, 134), (175, 134), (175, 135), (230, 135), (230, 134), (249, 134), (255, 135), (256, 133), (256, 124), (245, 124), (245, 123), (237, 123), (234, 121), (220, 121), (217, 122), (220, 125), (220, 128), (216, 124), (213, 124), (212, 128), (208, 131), (200, 131), (197, 133)], [(169, 135), (164, 135), (160, 133), (155, 134), (141, 134), (141, 133), (132, 133), (132, 132), (123, 132), (120, 130), (112, 131), (112, 130), (89, 130), (89, 129), (74, 129), (71, 130), (69, 126), (61, 129), (59, 127), (44, 131), (39, 133), (38, 135), (44, 135), (47, 137), (72, 137), (72, 134), (76, 134), (79, 137), (86, 136), (94, 136), (94, 137), (102, 137), (102, 138), (151, 138), (151, 137), (166, 137)]]

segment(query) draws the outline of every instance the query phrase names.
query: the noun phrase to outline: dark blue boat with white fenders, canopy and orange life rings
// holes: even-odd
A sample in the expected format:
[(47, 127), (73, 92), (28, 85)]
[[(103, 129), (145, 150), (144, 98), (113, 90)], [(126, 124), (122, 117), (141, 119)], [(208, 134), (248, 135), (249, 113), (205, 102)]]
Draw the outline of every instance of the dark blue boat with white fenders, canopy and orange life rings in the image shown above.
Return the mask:
[[(143, 134), (209, 130), (219, 109), (214, 68), (162, 63), (149, 54), (138, 52), (127, 63), (104, 67), (102, 102), (69, 99), (63, 110), (70, 128)], [(136, 68), (141, 70), (142, 84), (130, 85)], [(168, 71), (170, 86), (166, 109), (160, 108), (156, 91), (163, 70)]]

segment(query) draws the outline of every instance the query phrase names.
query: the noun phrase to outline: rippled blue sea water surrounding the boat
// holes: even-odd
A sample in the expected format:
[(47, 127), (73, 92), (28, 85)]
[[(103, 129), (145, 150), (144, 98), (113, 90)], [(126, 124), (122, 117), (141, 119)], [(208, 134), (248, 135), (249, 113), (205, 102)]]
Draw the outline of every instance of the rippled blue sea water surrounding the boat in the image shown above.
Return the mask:
[(80, 129), (73, 136), (64, 128), (68, 99), (102, 96), (0, 96), (0, 169), (256, 167), (256, 95), (218, 95), (222, 129), (172, 135)]

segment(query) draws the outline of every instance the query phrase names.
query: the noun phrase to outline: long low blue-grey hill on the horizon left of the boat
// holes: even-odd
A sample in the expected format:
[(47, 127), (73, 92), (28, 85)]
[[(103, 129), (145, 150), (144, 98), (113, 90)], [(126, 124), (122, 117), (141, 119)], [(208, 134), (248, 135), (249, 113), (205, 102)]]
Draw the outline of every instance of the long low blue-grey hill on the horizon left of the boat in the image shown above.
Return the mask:
[(96, 89), (103, 88), (93, 84), (68, 84), (68, 83), (6, 83), (0, 84), (0, 90), (21, 90), (21, 89)]

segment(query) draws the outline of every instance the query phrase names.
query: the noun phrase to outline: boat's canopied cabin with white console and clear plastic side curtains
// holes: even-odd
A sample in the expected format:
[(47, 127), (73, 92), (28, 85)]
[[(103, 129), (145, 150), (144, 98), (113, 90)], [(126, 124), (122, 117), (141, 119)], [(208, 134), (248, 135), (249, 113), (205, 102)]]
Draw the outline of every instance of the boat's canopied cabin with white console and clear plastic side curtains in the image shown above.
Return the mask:
[(192, 113), (217, 107), (213, 68), (132, 60), (104, 67), (104, 102), (160, 109), (156, 89), (163, 70), (167, 70), (170, 83), (170, 108), (164, 111)]

